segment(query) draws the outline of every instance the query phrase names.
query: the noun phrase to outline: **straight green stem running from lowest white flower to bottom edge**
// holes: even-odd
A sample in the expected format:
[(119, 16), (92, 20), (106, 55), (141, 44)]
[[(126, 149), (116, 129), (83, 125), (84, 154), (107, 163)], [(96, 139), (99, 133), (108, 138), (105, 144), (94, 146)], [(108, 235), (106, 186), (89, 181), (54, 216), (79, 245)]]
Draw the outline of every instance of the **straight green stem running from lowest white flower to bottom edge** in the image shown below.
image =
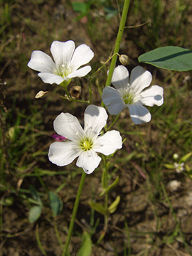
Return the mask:
[(79, 206), (79, 203), (80, 203), (80, 195), (81, 195), (82, 188), (83, 188), (83, 185), (84, 185), (85, 177), (86, 177), (86, 174), (85, 174), (84, 171), (82, 171), (80, 186), (78, 188), (78, 194), (77, 194), (77, 197), (75, 199), (75, 204), (74, 204), (74, 207), (73, 207), (73, 213), (72, 213), (72, 217), (71, 217), (71, 220), (70, 220), (70, 227), (69, 227), (69, 231), (68, 231), (68, 237), (67, 237), (67, 240), (65, 242), (65, 247), (64, 247), (62, 256), (68, 255), (68, 247), (70, 245), (70, 238), (71, 238), (72, 233), (73, 233), (73, 227), (74, 227), (75, 218), (76, 218), (76, 215), (77, 215), (77, 212), (78, 212), (78, 206)]

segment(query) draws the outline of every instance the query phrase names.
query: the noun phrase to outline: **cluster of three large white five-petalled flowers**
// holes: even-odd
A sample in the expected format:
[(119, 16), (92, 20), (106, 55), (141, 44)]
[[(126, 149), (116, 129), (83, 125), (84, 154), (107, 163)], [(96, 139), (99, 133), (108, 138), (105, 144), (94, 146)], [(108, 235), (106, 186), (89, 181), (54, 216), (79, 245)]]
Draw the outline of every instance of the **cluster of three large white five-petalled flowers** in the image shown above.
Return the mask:
[[(72, 78), (83, 77), (90, 72), (90, 65), (82, 67), (92, 60), (94, 53), (89, 46), (82, 44), (75, 49), (73, 41), (53, 41), (50, 46), (53, 59), (41, 50), (33, 51), (28, 67), (36, 70), (46, 83), (68, 86)], [(54, 61), (53, 61), (54, 60)], [(110, 114), (119, 114), (125, 108), (135, 124), (151, 120), (146, 106), (161, 106), (164, 102), (163, 88), (151, 84), (152, 75), (137, 66), (129, 72), (123, 65), (114, 69), (112, 85), (105, 87), (102, 100)], [(149, 87), (146, 89), (146, 87)], [(54, 134), (57, 142), (50, 144), (49, 160), (58, 166), (66, 166), (78, 158), (76, 165), (86, 174), (91, 174), (100, 164), (101, 157), (113, 154), (122, 148), (122, 137), (113, 130), (102, 134), (107, 124), (107, 112), (104, 107), (89, 105), (84, 114), (84, 128), (78, 119), (70, 113), (61, 113), (54, 121)]]

